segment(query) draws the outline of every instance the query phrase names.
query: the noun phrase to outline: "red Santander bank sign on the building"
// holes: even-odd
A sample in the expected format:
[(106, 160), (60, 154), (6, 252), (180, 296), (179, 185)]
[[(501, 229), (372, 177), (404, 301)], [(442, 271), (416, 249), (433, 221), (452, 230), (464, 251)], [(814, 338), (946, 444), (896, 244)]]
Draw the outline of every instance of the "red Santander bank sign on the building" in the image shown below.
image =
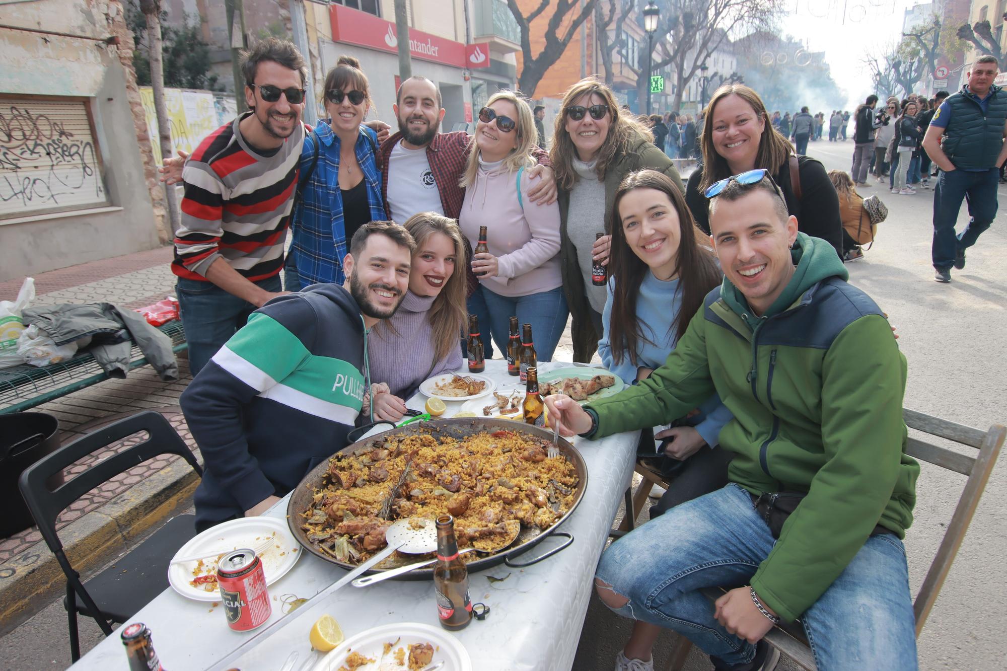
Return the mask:
[[(342, 5), (331, 5), (329, 12), (334, 41), (359, 44), (380, 51), (398, 50), (399, 38), (395, 23)], [(482, 45), (482, 49), (485, 49), (485, 45)], [(465, 44), (462, 42), (412, 28), (409, 30), (409, 51), (414, 58), (433, 60), (455, 68), (484, 68), (489, 64), (488, 53), (484, 56), (485, 65), (481, 64), (481, 59), (479, 64), (473, 65), (468, 61), (470, 53), (466, 53)]]

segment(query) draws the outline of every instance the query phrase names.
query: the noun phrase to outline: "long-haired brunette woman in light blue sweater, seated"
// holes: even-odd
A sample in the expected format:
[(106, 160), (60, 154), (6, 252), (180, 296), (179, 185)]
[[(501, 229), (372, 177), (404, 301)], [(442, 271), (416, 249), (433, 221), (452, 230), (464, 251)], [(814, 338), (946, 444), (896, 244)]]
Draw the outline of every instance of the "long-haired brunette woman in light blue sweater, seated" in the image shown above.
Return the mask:
[[(699, 244), (704, 236), (675, 182), (657, 170), (622, 180), (612, 222), (611, 278), (598, 354), (606, 368), (636, 383), (665, 363), (706, 294), (720, 284), (721, 273), (713, 254)], [(730, 454), (716, 446), (730, 420), (730, 411), (713, 396), (689, 417), (668, 418), (673, 426), (654, 436), (671, 440), (663, 454), (649, 435), (641, 440), (639, 455), (659, 456), (662, 471), (676, 476), (652, 507), (652, 517), (727, 483)]]

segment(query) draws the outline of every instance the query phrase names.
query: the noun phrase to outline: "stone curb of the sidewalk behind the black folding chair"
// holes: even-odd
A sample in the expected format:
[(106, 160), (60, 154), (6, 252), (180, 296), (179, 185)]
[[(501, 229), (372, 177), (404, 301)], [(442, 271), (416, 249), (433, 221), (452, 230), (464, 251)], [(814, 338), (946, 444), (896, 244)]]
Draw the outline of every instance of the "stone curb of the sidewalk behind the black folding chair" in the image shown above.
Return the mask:
[[(199, 478), (178, 459), (59, 530), (70, 565), (83, 576), (129, 551), (145, 532), (189, 505)], [(0, 565), (0, 636), (65, 591), (66, 578), (45, 541)]]

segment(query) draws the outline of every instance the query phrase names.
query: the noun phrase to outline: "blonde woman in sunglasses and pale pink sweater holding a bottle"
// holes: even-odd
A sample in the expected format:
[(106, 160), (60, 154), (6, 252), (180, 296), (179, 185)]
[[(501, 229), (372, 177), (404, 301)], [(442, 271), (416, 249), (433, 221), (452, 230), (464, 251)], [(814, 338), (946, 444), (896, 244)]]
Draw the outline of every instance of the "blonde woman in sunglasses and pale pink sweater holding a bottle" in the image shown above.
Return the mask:
[[(536, 130), (532, 110), (513, 92), (499, 91), (479, 111), (472, 151), (459, 180), (465, 188), (458, 224), (474, 249), (486, 227), (488, 253), (472, 257), (479, 286), (468, 311), (507, 352), (510, 317), (531, 323), (539, 361), (551, 361), (566, 327), (560, 275), (560, 210), (532, 203), (528, 192)], [(483, 331), (484, 332), (484, 331)]]

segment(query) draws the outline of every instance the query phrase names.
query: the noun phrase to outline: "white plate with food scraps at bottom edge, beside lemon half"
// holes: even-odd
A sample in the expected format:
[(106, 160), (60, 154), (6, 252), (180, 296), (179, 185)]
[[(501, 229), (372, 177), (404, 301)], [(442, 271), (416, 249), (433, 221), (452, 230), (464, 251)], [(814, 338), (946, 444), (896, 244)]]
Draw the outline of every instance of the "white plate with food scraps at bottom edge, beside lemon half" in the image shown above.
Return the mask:
[[(433, 599), (431, 599), (430, 607), (431, 612), (435, 612), (433, 611)], [(385, 644), (393, 643), (396, 639), (400, 639), (398, 644), (389, 652), (385, 664), (381, 665)], [(346, 656), (351, 651), (375, 660), (372, 664), (356, 667), (356, 671), (405, 670), (409, 664), (409, 646), (413, 643), (429, 643), (434, 647), (433, 662), (444, 660), (444, 666), (439, 671), (471, 671), (472, 669), (472, 660), (468, 656), (468, 651), (449, 632), (440, 627), (431, 627), (418, 622), (404, 622), (375, 627), (346, 639), (332, 652), (322, 657), (315, 664), (313, 671), (336, 671), (342, 666)], [(396, 649), (400, 647), (406, 649), (407, 666), (395, 664), (394, 654)]]

